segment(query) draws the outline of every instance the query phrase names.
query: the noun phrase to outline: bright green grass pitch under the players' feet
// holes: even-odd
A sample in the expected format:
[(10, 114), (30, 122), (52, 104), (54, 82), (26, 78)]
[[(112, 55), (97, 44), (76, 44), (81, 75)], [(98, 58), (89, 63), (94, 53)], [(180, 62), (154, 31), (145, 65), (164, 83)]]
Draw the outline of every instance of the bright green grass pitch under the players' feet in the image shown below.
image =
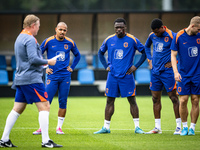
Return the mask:
[[(137, 96), (140, 111), (140, 127), (145, 131), (154, 128), (153, 103), (150, 96)], [(0, 137), (2, 136), (7, 115), (13, 107), (14, 98), (0, 98)], [(50, 110), (49, 135), (54, 142), (69, 150), (197, 150), (200, 147), (200, 125), (197, 122), (195, 136), (173, 135), (176, 127), (172, 103), (167, 96), (162, 97), (161, 126), (162, 134), (138, 135), (134, 133), (134, 122), (130, 115), (126, 98), (117, 98), (115, 113), (111, 121), (111, 133), (94, 135), (102, 128), (106, 97), (69, 97), (68, 110), (63, 124), (64, 135), (56, 135), (58, 102), (54, 98)], [(189, 112), (191, 102), (188, 102)], [(190, 117), (188, 117), (190, 125)], [(41, 135), (32, 135), (37, 130), (38, 111), (35, 106), (27, 105), (25, 112), (14, 125), (10, 139), (20, 149), (42, 149)]]

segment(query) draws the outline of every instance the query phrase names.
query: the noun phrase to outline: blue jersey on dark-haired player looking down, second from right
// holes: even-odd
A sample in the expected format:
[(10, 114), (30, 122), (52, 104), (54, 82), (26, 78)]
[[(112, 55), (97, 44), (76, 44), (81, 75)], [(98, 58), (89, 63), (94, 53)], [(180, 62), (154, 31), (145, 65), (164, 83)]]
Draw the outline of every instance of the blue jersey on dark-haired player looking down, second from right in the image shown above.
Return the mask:
[[(171, 62), (171, 42), (175, 33), (166, 29), (162, 36), (158, 37), (153, 32), (149, 34), (149, 37), (145, 43), (145, 52), (147, 59), (152, 60), (152, 73), (159, 75), (161, 71), (164, 71), (165, 64)], [(153, 43), (153, 57), (151, 55), (151, 45)]]

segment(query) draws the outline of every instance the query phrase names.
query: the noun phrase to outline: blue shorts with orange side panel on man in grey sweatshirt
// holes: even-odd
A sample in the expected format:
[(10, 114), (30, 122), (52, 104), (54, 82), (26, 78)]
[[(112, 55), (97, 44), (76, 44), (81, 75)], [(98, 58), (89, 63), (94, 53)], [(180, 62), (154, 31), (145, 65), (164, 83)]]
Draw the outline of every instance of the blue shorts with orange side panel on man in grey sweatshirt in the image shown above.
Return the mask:
[(37, 103), (48, 101), (48, 94), (43, 83), (16, 86), (15, 102)]

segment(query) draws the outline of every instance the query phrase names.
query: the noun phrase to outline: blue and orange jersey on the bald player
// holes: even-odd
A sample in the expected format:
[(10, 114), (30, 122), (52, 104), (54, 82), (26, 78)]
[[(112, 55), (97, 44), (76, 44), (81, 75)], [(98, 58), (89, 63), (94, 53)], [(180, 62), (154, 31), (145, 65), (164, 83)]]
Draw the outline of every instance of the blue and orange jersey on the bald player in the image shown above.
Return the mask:
[(70, 51), (74, 54), (75, 59), (72, 62), (71, 68), (74, 70), (78, 61), (80, 60), (80, 53), (76, 46), (76, 43), (65, 37), (63, 41), (59, 41), (55, 36), (51, 36), (45, 39), (41, 44), (42, 53), (47, 52), (47, 58), (51, 59), (59, 54), (62, 54), (61, 57), (57, 58), (55, 66), (49, 66), (53, 69), (53, 74), (51, 76), (60, 77), (63, 75), (70, 76), (71, 72), (67, 70), (67, 67), (70, 63)]

